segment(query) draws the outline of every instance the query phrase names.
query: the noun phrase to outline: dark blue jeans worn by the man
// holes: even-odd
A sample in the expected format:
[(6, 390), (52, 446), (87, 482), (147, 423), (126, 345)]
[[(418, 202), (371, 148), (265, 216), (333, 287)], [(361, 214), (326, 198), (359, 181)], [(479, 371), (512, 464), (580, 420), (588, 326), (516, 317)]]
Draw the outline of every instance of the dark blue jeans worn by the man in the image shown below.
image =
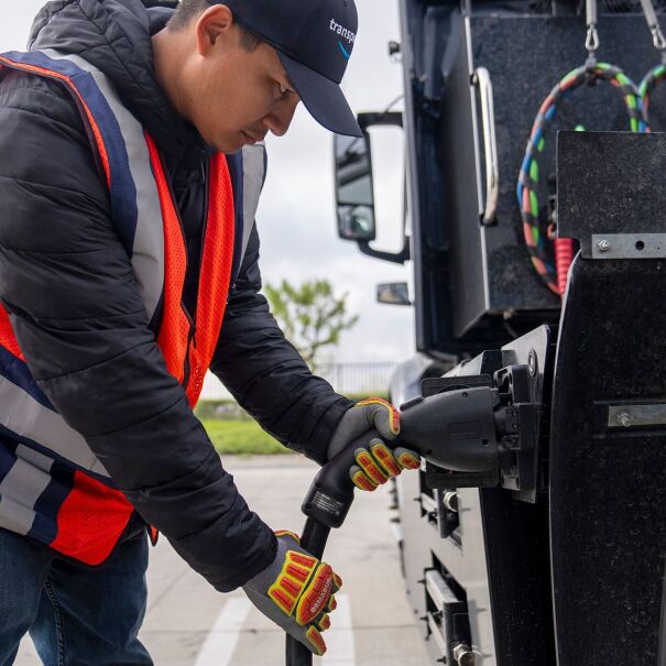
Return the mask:
[(144, 532), (92, 568), (0, 529), (0, 666), (29, 631), (45, 666), (152, 666), (137, 637), (146, 566)]

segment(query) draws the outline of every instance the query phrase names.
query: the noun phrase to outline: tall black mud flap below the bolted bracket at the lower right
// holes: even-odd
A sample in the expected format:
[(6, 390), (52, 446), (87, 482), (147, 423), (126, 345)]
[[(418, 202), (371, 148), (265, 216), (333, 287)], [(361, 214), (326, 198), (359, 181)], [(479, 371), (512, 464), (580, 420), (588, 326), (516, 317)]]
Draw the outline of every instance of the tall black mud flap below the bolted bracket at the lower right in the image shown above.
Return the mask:
[(657, 664), (666, 427), (609, 429), (604, 415), (666, 402), (665, 270), (580, 258), (572, 269), (550, 441), (559, 666)]

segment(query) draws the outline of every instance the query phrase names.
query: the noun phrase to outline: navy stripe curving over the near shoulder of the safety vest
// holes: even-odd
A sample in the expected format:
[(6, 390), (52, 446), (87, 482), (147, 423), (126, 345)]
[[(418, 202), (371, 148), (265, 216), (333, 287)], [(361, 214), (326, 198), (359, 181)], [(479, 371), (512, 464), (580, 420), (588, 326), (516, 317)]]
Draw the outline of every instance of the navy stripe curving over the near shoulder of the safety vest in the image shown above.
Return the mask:
[[(129, 170), (129, 157), (116, 116), (100, 92), (92, 75), (66, 59), (53, 59), (40, 52), (4, 54), (17, 63), (53, 69), (72, 78), (86, 100), (107, 148), (111, 172), (110, 201), (116, 230), (128, 254), (132, 255), (137, 231), (137, 189)], [(46, 75), (45, 75), (46, 76)], [(68, 88), (69, 89), (69, 88)], [(80, 100), (75, 97), (77, 105)]]

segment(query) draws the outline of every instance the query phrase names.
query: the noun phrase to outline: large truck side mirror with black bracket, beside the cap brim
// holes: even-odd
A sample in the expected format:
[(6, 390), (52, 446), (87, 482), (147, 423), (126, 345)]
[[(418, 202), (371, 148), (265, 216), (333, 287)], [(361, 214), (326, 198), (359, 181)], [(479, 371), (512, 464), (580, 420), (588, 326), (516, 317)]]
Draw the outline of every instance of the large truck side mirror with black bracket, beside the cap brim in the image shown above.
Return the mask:
[(375, 240), (375, 206), (372, 171), (372, 150), (369, 128), (396, 125), (402, 128), (402, 113), (359, 113), (362, 137), (335, 137), (336, 205), (338, 236), (353, 240), (364, 254), (404, 263), (410, 258), (407, 238), (400, 252), (383, 252), (370, 247)]

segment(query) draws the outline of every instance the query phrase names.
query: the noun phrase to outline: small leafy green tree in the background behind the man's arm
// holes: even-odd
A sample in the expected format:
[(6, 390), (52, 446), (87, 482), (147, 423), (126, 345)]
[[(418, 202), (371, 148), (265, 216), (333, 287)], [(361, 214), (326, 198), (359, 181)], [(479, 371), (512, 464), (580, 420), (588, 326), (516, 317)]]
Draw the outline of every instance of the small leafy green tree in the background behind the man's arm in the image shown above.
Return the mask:
[(347, 315), (349, 294), (337, 297), (328, 280), (307, 281), (299, 287), (283, 280), (277, 287), (266, 284), (265, 293), (285, 336), (313, 368), (320, 351), (337, 345), (340, 334), (359, 320), (358, 315)]

